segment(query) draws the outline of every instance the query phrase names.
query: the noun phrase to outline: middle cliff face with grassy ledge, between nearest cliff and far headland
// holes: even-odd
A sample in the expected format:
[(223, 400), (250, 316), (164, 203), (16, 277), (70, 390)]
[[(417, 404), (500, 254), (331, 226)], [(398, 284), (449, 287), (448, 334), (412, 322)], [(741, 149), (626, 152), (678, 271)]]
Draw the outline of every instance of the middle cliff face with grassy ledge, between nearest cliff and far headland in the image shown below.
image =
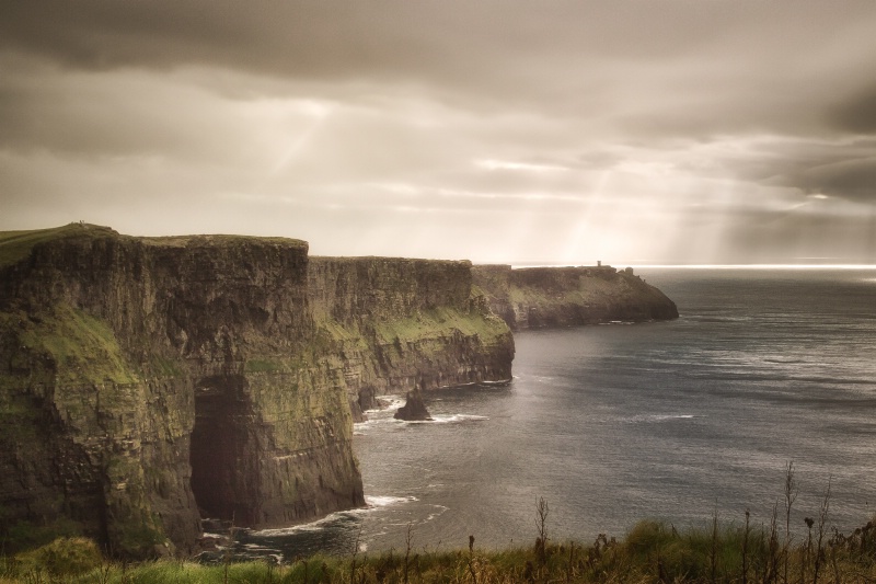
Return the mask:
[(511, 378), (514, 339), (470, 262), (311, 257), (308, 297), (354, 412), (374, 396)]

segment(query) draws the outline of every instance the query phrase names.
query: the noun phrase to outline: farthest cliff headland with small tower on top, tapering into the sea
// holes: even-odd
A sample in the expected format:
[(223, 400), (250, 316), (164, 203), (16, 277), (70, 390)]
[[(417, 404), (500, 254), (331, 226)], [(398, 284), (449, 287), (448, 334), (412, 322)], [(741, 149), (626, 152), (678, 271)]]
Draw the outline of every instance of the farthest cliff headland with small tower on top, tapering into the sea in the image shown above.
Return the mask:
[(491, 309), (512, 330), (678, 318), (676, 304), (630, 267), (477, 265), (472, 273)]

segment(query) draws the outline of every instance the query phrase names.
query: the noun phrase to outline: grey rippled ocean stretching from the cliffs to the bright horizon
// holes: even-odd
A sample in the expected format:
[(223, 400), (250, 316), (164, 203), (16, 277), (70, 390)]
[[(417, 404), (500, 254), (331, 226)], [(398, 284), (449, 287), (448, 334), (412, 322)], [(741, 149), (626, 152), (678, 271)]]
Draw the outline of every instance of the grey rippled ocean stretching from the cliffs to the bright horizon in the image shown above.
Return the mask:
[(876, 505), (876, 270), (637, 270), (672, 298), (671, 322), (516, 334), (515, 378), (426, 394), (434, 422), (369, 412), (357, 424), (369, 506), (289, 529), (241, 531), (237, 551), (292, 561), (622, 537), (643, 519), (703, 527), (714, 514), (792, 529), (866, 524)]

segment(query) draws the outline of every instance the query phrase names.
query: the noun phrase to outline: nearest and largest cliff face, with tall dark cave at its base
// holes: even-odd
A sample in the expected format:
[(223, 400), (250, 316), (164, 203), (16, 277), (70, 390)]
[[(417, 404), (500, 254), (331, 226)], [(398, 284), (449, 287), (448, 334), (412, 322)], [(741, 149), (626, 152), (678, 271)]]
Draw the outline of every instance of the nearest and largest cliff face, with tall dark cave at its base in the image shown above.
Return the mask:
[(201, 512), (270, 526), (362, 504), (307, 263), (292, 240), (92, 228), (7, 266), (0, 523), (145, 556), (189, 550)]

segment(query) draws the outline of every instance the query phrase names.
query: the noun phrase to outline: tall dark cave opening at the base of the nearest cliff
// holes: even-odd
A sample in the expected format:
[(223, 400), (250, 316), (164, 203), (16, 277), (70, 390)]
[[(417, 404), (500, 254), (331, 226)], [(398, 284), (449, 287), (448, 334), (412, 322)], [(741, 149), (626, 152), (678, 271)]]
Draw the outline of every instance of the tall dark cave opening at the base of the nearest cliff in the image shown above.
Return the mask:
[(252, 526), (258, 500), (257, 440), (243, 376), (215, 376), (195, 387), (189, 462), (204, 518)]

